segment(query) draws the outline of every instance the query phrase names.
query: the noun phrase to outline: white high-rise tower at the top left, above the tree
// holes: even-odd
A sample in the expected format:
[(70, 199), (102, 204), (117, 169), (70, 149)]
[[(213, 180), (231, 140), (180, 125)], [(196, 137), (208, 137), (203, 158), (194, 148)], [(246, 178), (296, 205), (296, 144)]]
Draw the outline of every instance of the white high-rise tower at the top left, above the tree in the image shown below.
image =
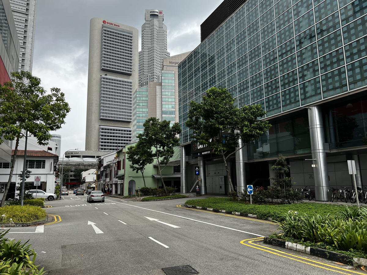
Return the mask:
[(20, 43), (19, 71), (32, 73), (37, 0), (10, 0), (10, 6)]

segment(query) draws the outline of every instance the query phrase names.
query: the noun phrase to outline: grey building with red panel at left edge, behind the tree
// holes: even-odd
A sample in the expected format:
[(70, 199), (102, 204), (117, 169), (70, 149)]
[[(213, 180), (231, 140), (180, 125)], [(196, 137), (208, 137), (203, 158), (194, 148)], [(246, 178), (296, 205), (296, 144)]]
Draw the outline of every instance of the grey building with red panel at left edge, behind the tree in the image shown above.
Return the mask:
[[(9, 0), (0, 1), (0, 84), (10, 81), (10, 72), (18, 70), (19, 40)], [(11, 161), (10, 140), (0, 144), (0, 164)], [(0, 192), (5, 183), (0, 182)]]

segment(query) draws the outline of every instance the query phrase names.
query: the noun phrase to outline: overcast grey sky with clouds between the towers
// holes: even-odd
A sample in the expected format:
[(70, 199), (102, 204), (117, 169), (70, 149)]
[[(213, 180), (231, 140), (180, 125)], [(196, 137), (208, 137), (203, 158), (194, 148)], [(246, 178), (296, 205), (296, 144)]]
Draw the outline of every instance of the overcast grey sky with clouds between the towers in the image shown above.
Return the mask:
[[(152, 3), (153, 2), (153, 3)], [(61, 135), (61, 154), (85, 149), (89, 22), (103, 19), (139, 30), (145, 10), (163, 10), (167, 50), (172, 55), (192, 51), (200, 44), (200, 24), (222, 0), (38, 0), (32, 74), (47, 91), (58, 87), (71, 111)], [(62, 156), (61, 156), (62, 157)]]

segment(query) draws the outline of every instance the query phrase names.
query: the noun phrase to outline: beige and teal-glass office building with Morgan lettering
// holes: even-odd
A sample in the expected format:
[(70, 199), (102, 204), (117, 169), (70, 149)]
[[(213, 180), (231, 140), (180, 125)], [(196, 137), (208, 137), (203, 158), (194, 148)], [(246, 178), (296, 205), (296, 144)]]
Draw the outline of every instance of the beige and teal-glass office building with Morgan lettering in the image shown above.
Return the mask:
[(178, 122), (178, 64), (190, 52), (163, 59), (161, 82), (148, 82), (132, 96), (132, 142), (143, 132), (143, 124), (149, 117)]

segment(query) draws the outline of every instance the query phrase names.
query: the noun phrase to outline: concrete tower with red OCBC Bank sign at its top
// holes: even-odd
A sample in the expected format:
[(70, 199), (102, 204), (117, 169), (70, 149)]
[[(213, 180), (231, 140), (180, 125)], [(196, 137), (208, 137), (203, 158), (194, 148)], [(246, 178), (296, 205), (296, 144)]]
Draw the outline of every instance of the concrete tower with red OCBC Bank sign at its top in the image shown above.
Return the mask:
[(102, 18), (90, 21), (86, 150), (131, 143), (132, 92), (138, 88), (138, 30)]

